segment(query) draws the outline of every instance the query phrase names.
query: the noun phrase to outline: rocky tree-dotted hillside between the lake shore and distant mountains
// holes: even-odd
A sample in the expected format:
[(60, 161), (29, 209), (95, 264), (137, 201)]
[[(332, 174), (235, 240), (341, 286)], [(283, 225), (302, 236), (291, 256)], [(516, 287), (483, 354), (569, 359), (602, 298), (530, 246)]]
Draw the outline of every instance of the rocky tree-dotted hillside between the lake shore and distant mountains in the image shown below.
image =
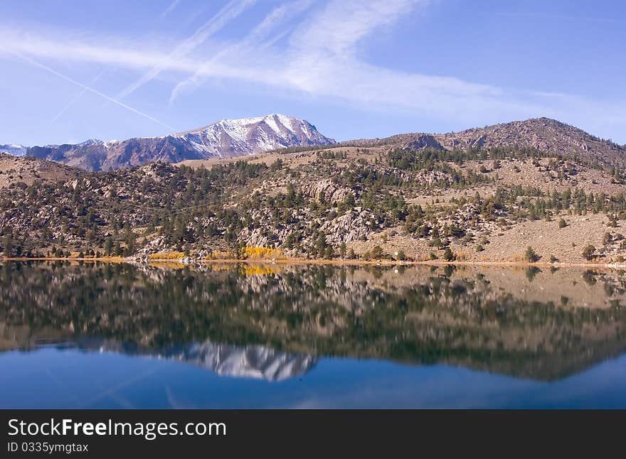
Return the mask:
[(3, 156), (2, 253), (625, 263), (626, 173), (605, 156), (440, 140), (106, 173)]

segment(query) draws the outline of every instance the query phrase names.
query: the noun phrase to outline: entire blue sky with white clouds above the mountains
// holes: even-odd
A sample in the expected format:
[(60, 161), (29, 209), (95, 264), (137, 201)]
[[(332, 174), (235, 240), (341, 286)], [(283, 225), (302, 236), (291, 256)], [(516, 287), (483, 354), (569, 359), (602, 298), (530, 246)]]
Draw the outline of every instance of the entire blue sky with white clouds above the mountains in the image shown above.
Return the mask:
[(626, 2), (3, 0), (0, 144), (282, 113), (338, 140), (553, 117), (626, 143)]

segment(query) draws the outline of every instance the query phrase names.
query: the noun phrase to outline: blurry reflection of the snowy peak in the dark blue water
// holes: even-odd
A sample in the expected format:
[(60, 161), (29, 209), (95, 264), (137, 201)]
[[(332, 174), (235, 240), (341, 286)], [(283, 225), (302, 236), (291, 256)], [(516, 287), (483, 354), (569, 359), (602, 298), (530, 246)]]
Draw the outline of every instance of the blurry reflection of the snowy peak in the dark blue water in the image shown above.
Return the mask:
[(120, 352), (159, 359), (177, 360), (210, 369), (221, 376), (282, 381), (308, 372), (317, 360), (311, 355), (279, 352), (263, 346), (233, 346), (210, 341), (145, 349), (134, 345), (101, 340), (81, 340), (78, 347), (101, 352)]

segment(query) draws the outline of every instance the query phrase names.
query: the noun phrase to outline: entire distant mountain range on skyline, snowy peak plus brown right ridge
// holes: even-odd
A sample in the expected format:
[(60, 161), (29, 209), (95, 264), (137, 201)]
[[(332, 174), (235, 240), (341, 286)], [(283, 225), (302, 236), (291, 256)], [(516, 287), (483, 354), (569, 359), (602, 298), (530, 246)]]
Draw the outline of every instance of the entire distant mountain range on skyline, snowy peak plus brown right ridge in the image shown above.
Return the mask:
[[(189, 159), (230, 158), (287, 147), (329, 146), (336, 142), (315, 126), (293, 117), (225, 119), (214, 124), (162, 137), (134, 137), (103, 142), (31, 146), (0, 145), (0, 152), (34, 156), (87, 171), (110, 171), (153, 161), (178, 163)], [(359, 139), (337, 146), (391, 146), (408, 150), (435, 148), (530, 147), (555, 156), (626, 166), (626, 146), (600, 139), (548, 118), (526, 119), (447, 134), (398, 134), (385, 139)]]

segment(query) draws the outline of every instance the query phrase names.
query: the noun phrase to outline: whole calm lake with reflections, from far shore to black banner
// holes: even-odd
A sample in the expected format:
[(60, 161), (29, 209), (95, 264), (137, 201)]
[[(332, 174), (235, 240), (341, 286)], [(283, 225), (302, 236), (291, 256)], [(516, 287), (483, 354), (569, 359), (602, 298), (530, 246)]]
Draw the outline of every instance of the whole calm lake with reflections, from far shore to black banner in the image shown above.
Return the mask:
[(623, 271), (0, 264), (0, 408), (626, 407)]

